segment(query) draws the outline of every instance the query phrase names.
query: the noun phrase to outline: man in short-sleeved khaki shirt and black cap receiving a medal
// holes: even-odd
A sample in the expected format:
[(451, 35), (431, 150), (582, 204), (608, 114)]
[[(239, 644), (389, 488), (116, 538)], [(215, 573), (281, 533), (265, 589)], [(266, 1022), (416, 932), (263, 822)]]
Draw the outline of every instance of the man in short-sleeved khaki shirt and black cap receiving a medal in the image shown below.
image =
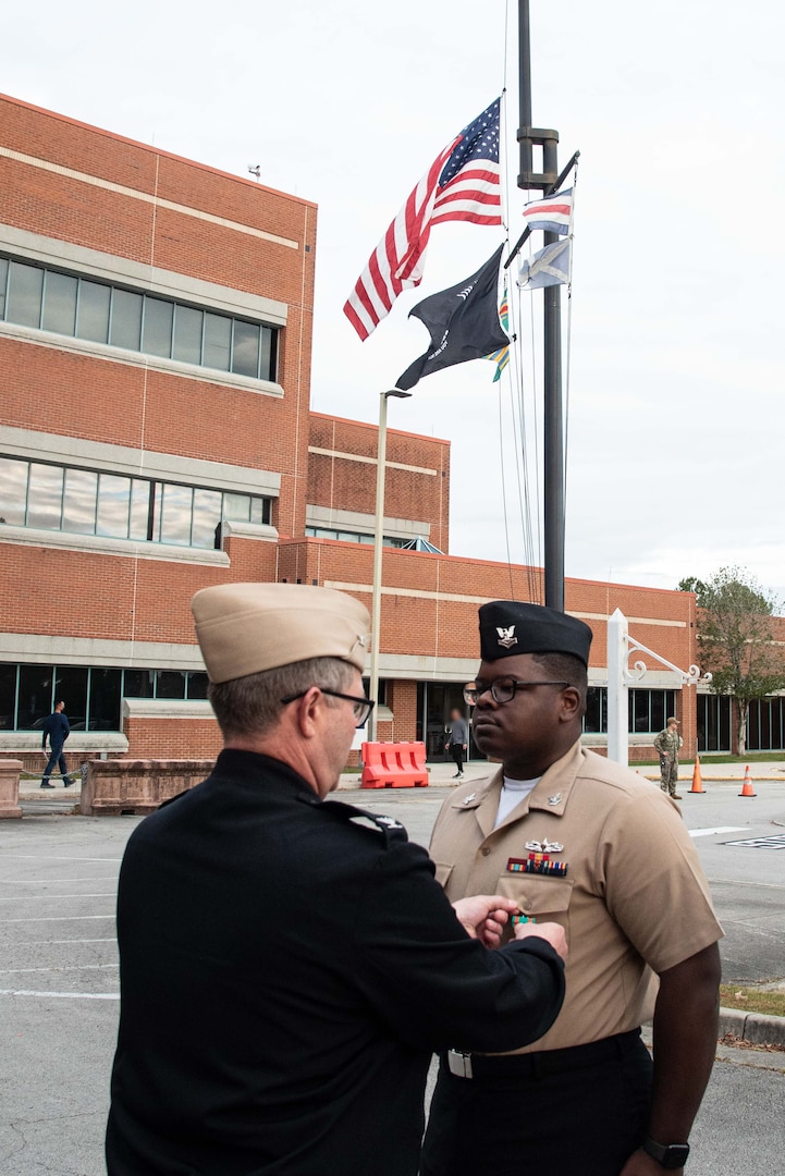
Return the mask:
[[(444, 802), (431, 856), (450, 901), (496, 891), (566, 929), (566, 998), (514, 1054), (442, 1055), (421, 1174), (682, 1171), (714, 1056), (723, 934), (695, 847), (676, 804), (581, 747), (588, 626), (496, 601), (479, 633), (467, 701), (477, 746), (503, 766)], [(652, 1011), (653, 1074), (639, 1036)]]

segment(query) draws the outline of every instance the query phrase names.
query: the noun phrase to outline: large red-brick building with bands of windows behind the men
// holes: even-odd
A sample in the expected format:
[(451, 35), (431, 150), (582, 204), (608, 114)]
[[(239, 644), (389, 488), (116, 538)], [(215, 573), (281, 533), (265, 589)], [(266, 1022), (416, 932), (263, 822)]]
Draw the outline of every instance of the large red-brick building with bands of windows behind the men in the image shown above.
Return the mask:
[[(197, 588), (370, 604), (376, 430), (309, 406), (316, 208), (9, 98), (0, 192), (0, 755), (40, 763), (63, 697), (72, 755), (210, 756)], [(476, 671), (477, 606), (529, 599), (532, 573), (448, 554), (448, 441), (391, 430), (388, 463), (380, 736), (436, 757)], [(686, 667), (695, 597), (571, 580), (566, 604), (595, 630), (602, 746), (608, 616)], [(672, 710), (693, 754), (724, 701), (652, 663), (636, 754)]]

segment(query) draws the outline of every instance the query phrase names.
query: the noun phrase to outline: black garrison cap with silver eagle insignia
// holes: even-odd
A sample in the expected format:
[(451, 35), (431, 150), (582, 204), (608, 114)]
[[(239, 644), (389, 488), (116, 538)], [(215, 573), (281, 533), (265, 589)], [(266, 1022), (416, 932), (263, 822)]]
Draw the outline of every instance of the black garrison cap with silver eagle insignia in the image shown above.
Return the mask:
[(591, 636), (583, 621), (543, 604), (494, 600), (479, 609), (483, 661), (516, 654), (572, 654), (588, 666)]

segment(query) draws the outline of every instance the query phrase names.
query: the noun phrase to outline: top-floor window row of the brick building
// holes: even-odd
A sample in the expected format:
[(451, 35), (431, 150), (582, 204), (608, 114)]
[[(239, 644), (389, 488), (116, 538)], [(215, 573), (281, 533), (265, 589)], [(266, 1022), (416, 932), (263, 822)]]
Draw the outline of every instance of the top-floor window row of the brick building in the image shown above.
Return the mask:
[(276, 379), (277, 328), (0, 258), (0, 321), (130, 352)]

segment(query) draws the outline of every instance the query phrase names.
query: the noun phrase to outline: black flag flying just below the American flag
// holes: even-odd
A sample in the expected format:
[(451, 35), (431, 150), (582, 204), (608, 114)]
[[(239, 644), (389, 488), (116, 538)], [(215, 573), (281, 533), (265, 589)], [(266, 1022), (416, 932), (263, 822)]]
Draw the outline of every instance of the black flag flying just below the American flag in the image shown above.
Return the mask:
[(408, 392), (431, 372), (479, 360), (510, 342), (498, 318), (501, 245), (471, 278), (423, 299), (409, 312), (430, 332), (430, 348), (407, 368), (396, 387)]

